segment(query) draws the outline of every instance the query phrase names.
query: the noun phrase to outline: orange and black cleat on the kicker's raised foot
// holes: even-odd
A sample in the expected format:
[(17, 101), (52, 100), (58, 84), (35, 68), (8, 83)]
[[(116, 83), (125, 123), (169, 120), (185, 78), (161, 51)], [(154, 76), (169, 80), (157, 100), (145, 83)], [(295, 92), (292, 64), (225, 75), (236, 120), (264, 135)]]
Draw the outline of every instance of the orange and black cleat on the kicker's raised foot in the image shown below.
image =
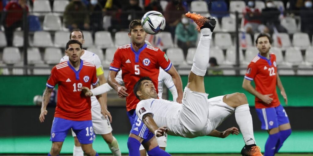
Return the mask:
[(195, 12), (190, 13), (187, 12), (185, 14), (186, 17), (191, 18), (194, 22), (197, 23), (199, 30), (203, 28), (209, 28), (211, 32), (213, 32), (215, 26), (216, 26), (216, 21), (214, 18), (211, 17), (203, 17), (200, 14), (196, 14)]

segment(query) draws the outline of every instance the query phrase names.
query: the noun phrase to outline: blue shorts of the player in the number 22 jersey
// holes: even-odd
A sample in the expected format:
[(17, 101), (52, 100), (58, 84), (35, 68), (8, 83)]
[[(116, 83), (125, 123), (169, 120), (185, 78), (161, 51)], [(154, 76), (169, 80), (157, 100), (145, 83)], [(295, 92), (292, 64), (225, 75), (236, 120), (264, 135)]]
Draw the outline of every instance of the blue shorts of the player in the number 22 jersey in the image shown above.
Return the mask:
[(289, 123), (288, 115), (282, 105), (255, 110), (262, 123), (261, 129), (269, 130)]

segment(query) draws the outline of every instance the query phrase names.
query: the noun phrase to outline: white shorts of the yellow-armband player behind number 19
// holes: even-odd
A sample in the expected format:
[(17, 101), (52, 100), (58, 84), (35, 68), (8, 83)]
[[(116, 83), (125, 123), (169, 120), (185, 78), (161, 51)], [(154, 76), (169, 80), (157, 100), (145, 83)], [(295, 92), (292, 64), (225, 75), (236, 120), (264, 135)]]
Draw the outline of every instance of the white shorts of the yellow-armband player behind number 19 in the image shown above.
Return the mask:
[[(112, 132), (112, 127), (110, 120), (105, 119), (101, 114), (100, 105), (91, 107), (91, 118), (92, 118), (92, 127), (95, 134), (109, 134)], [(72, 136), (75, 137), (76, 134), (72, 130)]]

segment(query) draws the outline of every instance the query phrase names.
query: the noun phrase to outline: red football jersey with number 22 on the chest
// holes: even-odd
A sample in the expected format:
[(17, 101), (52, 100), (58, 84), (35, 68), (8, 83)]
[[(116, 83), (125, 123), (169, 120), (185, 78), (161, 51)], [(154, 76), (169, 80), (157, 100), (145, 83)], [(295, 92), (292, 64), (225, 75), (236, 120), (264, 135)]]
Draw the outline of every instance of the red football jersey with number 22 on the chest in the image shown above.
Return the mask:
[(270, 96), (273, 98), (270, 104), (266, 104), (258, 97), (255, 97), (255, 108), (270, 108), (280, 105), (276, 92), (277, 66), (275, 54), (270, 53), (269, 60), (260, 54), (255, 56), (248, 65), (244, 78), (251, 81), (254, 80), (255, 90), (259, 93), (263, 95), (273, 94)]

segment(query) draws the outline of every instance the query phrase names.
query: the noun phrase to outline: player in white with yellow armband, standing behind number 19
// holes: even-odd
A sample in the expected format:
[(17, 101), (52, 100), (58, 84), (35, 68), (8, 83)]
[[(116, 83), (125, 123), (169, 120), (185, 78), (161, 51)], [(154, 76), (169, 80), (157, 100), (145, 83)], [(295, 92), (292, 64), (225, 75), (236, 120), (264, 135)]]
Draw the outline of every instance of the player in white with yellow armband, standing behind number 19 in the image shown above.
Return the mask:
[[(69, 38), (71, 40), (78, 40), (80, 43), (84, 44), (84, 35), (83, 32), (79, 29), (74, 29), (71, 33)], [(102, 69), (101, 61), (99, 56), (93, 52), (84, 50), (81, 59), (87, 62), (90, 62), (96, 66), (97, 69), (97, 76), (99, 78), (99, 84), (105, 84), (105, 76)], [(60, 62), (68, 61), (69, 57), (64, 56), (61, 58)], [(95, 134), (100, 134), (105, 142), (108, 144), (109, 149), (111, 150), (114, 156), (121, 156), (121, 151), (118, 145), (117, 140), (112, 135), (112, 127), (110, 122), (112, 122), (112, 117), (110, 112), (107, 111), (106, 105), (106, 93), (102, 95), (104, 98), (100, 98), (98, 101), (95, 96), (91, 97), (91, 116), (92, 116), (92, 126), (94, 129)], [(76, 134), (72, 131), (72, 135), (74, 137), (74, 150), (73, 156), (83, 156), (83, 150), (81, 145), (76, 137)]]

